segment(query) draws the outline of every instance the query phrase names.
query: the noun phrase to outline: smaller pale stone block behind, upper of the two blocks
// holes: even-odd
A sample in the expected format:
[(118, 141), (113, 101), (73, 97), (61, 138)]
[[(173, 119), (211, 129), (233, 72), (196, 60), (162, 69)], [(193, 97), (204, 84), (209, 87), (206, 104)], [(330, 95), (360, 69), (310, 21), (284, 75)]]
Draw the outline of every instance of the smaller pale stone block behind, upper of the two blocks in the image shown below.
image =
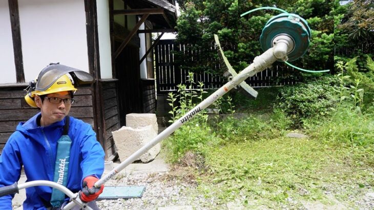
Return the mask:
[(157, 117), (152, 113), (131, 113), (126, 115), (126, 126), (131, 128), (139, 128), (152, 125), (153, 130), (158, 133)]

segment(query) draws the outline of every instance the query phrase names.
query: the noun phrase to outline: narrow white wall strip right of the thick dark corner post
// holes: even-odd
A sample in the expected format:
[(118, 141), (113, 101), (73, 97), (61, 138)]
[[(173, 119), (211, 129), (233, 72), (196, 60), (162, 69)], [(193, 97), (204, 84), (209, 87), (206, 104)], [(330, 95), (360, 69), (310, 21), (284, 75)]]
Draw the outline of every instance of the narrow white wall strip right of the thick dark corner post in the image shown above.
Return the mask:
[(100, 75), (102, 79), (110, 79), (113, 77), (108, 0), (97, 1), (96, 8), (97, 31), (99, 35)]

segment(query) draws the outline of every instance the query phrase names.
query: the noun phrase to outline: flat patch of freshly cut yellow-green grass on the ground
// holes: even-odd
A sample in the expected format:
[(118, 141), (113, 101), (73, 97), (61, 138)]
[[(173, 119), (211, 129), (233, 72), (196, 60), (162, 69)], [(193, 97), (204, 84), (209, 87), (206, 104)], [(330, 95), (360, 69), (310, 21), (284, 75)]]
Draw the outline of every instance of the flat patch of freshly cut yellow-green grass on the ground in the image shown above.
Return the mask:
[(311, 175), (327, 162), (329, 157), (322, 154), (324, 150), (317, 142), (306, 139), (284, 137), (231, 144), (209, 154), (211, 175), (204, 178), (212, 181), (202, 183), (212, 184), (212, 190), (227, 189), (215, 193), (222, 200), (241, 194), (261, 199), (263, 204), (278, 203), (305, 187), (313, 192), (308, 197), (317, 199), (321, 192), (312, 187), (318, 179)]

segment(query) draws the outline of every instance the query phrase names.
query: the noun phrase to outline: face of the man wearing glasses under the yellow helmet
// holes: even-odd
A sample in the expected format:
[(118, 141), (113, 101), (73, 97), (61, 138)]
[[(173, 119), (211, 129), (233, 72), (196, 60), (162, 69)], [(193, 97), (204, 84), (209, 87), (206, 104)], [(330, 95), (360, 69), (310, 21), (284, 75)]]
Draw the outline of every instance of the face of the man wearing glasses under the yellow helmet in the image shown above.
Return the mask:
[(46, 96), (47, 97), (44, 98), (43, 103), (39, 96), (35, 96), (35, 103), (37, 107), (40, 108), (41, 112), (40, 125), (42, 127), (63, 120), (65, 116), (69, 114), (71, 108), (71, 104), (65, 103), (64, 101), (61, 101), (60, 103), (51, 102), (55, 99), (54, 97), (61, 99), (71, 98), (68, 91), (51, 93)]

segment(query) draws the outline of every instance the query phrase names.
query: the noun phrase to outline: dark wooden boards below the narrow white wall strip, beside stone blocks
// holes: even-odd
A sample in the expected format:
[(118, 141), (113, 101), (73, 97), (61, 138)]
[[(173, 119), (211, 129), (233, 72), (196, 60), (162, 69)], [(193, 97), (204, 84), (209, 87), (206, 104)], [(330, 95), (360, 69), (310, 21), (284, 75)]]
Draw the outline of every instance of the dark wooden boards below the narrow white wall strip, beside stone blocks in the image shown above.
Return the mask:
[(104, 101), (105, 140), (107, 156), (112, 159), (117, 148), (114, 144), (112, 131), (120, 128), (117, 100), (117, 80), (102, 81), (102, 96)]

